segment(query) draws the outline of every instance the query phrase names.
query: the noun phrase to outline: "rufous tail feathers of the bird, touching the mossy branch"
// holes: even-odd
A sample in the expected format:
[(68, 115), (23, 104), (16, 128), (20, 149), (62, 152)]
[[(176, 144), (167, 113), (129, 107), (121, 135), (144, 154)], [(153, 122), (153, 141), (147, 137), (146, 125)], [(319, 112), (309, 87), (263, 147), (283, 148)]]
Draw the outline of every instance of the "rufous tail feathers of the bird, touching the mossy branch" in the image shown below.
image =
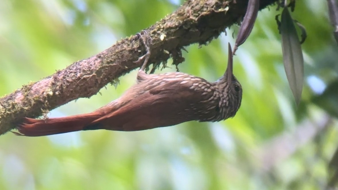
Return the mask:
[(32, 119), (25, 117), (23, 123), (17, 127), (16, 135), (22, 136), (45, 136), (74, 131), (81, 131), (83, 127), (93, 120), (101, 117), (101, 114), (88, 113), (68, 117)]

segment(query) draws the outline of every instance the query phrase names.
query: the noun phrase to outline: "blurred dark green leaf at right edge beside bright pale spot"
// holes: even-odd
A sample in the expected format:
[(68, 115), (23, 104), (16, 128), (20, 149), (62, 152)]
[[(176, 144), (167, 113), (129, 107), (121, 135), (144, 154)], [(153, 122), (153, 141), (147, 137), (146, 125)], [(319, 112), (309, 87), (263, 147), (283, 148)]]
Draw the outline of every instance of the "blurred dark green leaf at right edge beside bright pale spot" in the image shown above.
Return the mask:
[(332, 82), (325, 91), (312, 99), (312, 102), (329, 114), (338, 117), (338, 79)]

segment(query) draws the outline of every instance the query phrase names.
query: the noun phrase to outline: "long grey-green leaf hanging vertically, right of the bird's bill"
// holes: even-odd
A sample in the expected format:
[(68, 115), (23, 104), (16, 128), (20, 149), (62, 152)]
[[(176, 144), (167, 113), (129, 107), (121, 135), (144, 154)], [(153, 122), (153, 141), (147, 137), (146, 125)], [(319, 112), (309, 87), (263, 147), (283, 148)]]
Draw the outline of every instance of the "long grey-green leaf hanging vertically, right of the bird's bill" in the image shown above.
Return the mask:
[(303, 90), (304, 60), (297, 31), (288, 8), (284, 8), (282, 12), (280, 32), (282, 34), (284, 69), (298, 105)]

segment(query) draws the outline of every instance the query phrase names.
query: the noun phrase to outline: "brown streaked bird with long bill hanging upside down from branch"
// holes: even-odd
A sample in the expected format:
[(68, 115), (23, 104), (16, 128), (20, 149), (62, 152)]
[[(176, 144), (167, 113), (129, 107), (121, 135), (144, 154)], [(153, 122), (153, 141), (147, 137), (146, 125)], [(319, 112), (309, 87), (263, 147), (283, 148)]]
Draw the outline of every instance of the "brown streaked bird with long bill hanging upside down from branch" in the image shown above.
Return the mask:
[(18, 132), (13, 133), (46, 136), (99, 129), (141, 131), (192, 120), (215, 122), (235, 116), (242, 101), (242, 87), (233, 75), (230, 43), (225, 73), (217, 81), (208, 82), (181, 72), (146, 74), (149, 38), (142, 37), (147, 52), (138, 60), (144, 62), (138, 71), (137, 82), (120, 98), (91, 113), (46, 119), (25, 117), (17, 126)]

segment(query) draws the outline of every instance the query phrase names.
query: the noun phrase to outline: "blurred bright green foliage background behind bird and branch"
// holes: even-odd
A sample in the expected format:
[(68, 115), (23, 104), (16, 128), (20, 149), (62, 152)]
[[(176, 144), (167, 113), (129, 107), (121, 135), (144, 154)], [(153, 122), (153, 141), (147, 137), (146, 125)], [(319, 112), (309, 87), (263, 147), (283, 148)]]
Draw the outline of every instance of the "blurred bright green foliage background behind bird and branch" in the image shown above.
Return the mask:
[[(182, 0), (1, 0), (0, 96), (134, 35)], [(308, 38), (305, 84), (296, 107), (284, 72), (276, 6), (259, 12), (234, 57), (243, 87), (236, 116), (139, 132), (83, 131), (0, 137), (0, 189), (323, 189), (338, 147), (338, 53), (326, 1), (297, 1)], [(226, 68), (227, 29), (208, 46), (187, 47), (181, 72), (215, 81)], [(175, 71), (170, 65), (157, 73)], [(170, 68), (171, 67), (171, 68)], [(136, 71), (49, 117), (91, 112), (118, 98)]]

